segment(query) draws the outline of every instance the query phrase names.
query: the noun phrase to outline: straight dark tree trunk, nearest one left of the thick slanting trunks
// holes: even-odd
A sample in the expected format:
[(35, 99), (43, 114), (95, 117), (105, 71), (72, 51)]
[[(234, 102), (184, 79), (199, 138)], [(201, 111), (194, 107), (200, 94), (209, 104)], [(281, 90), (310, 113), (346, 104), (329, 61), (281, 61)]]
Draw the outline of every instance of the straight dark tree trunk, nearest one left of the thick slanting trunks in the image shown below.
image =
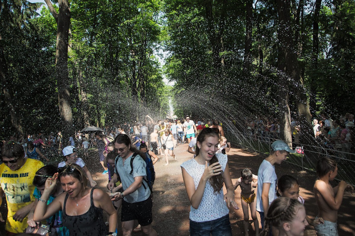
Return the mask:
[(248, 74), (251, 64), (251, 40), (253, 29), (253, 0), (246, 0), (246, 26), (245, 26), (245, 47), (244, 47), (244, 74)]

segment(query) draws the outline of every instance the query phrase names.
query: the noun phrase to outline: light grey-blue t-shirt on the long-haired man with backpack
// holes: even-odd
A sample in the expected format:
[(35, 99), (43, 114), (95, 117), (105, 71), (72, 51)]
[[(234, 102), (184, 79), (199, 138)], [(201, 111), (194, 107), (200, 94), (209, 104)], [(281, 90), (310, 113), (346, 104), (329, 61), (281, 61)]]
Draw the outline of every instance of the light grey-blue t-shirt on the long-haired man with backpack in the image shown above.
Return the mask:
[[(120, 156), (117, 156), (115, 160), (115, 173), (121, 178), (123, 190), (126, 190), (134, 182), (134, 177), (143, 176), (143, 178), (147, 178), (147, 164), (140, 155), (137, 155), (135, 159), (133, 159), (133, 172), (130, 174), (131, 158), (132, 156), (128, 157), (124, 163), (122, 162), (122, 157)], [(146, 189), (144, 189), (143, 184), (146, 186)], [(141, 187), (125, 196), (124, 200), (129, 203), (141, 202), (147, 200), (150, 195), (151, 190), (149, 190), (147, 182), (143, 179)]]

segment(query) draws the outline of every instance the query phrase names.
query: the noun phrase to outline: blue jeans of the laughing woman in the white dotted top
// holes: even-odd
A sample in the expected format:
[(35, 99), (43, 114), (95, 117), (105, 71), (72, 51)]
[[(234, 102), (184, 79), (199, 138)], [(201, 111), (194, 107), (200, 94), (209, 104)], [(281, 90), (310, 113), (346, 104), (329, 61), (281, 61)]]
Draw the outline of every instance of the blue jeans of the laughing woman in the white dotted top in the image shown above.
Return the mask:
[(229, 222), (229, 214), (219, 219), (196, 222), (190, 220), (191, 236), (232, 236), (232, 229)]

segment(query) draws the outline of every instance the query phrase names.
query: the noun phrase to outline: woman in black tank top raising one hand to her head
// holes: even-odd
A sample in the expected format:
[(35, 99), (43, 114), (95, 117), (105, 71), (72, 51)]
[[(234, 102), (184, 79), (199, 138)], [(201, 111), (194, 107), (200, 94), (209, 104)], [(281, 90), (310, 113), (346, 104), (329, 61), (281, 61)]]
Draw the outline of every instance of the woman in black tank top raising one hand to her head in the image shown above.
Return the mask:
[[(56, 188), (58, 180), (64, 192), (47, 206), (50, 193)], [(76, 164), (61, 167), (58, 173), (48, 178), (38, 200), (33, 215), (35, 221), (42, 221), (62, 211), (63, 225), (69, 229), (70, 235), (116, 235), (117, 213), (109, 195), (100, 189), (88, 188), (84, 172)], [(109, 232), (103, 211), (109, 215)]]

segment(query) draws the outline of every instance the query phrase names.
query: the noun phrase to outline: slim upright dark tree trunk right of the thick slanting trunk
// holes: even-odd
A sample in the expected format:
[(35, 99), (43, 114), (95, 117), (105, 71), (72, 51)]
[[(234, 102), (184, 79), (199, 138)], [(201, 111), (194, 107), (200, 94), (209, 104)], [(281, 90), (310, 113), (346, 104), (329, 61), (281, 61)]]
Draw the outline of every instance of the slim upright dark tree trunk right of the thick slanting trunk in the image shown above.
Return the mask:
[[(321, 10), (321, 3), (322, 0), (316, 0), (315, 2), (315, 8), (314, 8), (314, 14), (313, 14), (313, 40), (312, 40), (312, 69), (317, 70), (318, 69), (318, 54), (319, 54), (319, 37), (318, 37), (318, 32), (319, 32), (319, 13)], [(313, 73), (316, 74), (316, 73)], [(315, 81), (317, 81), (317, 77), (314, 75), (311, 76), (311, 83), (310, 83), (310, 109), (312, 111), (312, 114), (315, 114), (316, 112), (316, 97), (317, 97), (317, 84)]]

